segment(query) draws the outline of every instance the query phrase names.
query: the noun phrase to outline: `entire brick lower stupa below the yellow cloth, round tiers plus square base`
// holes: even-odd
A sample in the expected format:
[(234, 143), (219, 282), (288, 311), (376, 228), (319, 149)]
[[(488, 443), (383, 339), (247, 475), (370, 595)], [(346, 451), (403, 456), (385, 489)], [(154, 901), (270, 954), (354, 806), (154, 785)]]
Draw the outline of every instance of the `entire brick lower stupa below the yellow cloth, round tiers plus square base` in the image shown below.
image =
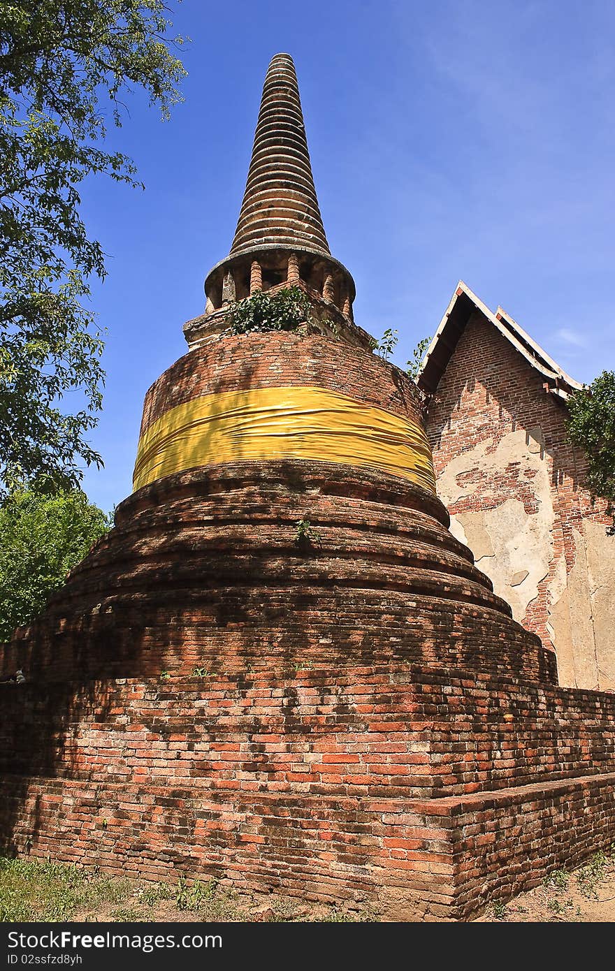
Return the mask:
[(5, 853), (465, 920), (615, 839), (615, 696), (425, 489), (237, 463), (116, 519), (2, 652)]

